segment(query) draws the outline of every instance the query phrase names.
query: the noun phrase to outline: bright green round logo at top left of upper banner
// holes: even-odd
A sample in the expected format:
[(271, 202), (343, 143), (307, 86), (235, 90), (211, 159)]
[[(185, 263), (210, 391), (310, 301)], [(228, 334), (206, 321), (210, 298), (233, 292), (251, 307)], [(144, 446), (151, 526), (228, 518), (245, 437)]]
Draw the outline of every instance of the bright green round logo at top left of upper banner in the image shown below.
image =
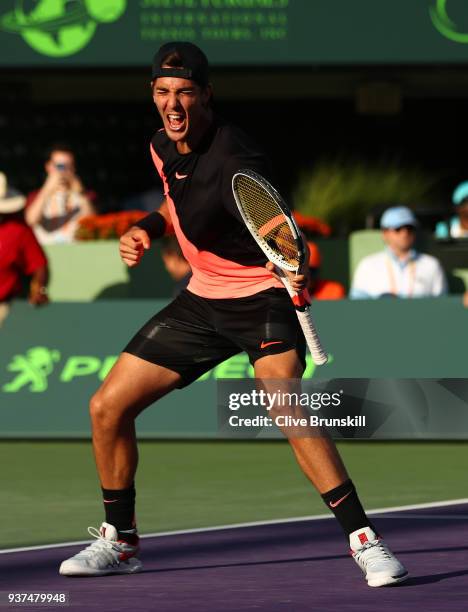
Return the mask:
[(22, 36), (49, 57), (67, 57), (90, 42), (99, 23), (117, 21), (127, 0), (15, 0), (0, 29)]

